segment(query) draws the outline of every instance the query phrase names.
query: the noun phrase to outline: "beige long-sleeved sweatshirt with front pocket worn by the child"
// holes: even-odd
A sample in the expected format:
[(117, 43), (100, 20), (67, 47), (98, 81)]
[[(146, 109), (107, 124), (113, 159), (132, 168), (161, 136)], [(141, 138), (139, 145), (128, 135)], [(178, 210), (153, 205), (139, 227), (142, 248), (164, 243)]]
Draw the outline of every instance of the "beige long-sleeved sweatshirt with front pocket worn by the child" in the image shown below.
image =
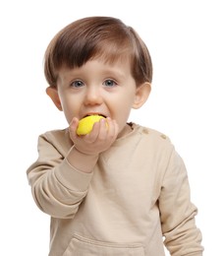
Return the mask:
[(51, 216), (50, 256), (164, 256), (164, 244), (173, 256), (202, 255), (183, 160), (166, 136), (133, 127), (91, 173), (66, 159), (68, 130), (39, 137), (28, 181)]

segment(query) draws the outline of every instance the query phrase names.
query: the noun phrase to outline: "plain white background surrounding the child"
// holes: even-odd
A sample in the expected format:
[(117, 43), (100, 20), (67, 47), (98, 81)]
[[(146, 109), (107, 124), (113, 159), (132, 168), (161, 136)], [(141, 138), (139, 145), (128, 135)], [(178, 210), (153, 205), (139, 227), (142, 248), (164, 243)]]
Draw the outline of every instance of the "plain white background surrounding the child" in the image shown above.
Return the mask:
[[(114, 16), (151, 53), (147, 103), (130, 120), (167, 134), (186, 162), (204, 255), (223, 254), (224, 7), (217, 0), (1, 1), (1, 252), (47, 255), (49, 217), (26, 176), (37, 136), (67, 126), (45, 95), (42, 59), (53, 35), (85, 16)], [(2, 254), (0, 252), (0, 254)]]

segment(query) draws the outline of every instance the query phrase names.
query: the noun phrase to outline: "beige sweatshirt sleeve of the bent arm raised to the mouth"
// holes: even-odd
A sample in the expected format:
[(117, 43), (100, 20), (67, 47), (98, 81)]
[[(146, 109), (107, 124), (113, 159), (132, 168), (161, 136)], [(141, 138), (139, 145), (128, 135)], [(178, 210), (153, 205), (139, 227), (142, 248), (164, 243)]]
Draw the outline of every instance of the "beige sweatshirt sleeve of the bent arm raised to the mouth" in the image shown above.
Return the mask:
[(32, 196), (41, 211), (54, 218), (73, 218), (92, 173), (73, 167), (46, 136), (38, 139), (38, 159), (28, 168)]

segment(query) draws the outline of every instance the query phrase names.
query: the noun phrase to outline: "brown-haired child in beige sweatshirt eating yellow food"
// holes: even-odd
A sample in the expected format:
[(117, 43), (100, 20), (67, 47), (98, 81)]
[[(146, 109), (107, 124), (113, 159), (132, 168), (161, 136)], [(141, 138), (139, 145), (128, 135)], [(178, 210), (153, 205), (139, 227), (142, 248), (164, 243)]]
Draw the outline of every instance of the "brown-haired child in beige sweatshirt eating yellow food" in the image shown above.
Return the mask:
[[(46, 93), (69, 123), (38, 140), (28, 168), (51, 216), (50, 256), (202, 255), (183, 160), (170, 140), (127, 123), (150, 93), (152, 65), (120, 20), (90, 17), (58, 32), (45, 53)], [(102, 115), (89, 134), (79, 120)]]

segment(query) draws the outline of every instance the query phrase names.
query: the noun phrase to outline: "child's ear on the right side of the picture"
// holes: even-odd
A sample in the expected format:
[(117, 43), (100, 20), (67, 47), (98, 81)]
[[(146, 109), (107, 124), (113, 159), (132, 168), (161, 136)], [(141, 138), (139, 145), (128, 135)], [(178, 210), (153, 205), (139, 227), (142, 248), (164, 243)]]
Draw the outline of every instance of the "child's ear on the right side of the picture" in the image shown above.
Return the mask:
[(148, 82), (143, 83), (137, 88), (136, 98), (133, 103), (133, 108), (138, 109), (147, 100), (151, 92), (151, 85)]

